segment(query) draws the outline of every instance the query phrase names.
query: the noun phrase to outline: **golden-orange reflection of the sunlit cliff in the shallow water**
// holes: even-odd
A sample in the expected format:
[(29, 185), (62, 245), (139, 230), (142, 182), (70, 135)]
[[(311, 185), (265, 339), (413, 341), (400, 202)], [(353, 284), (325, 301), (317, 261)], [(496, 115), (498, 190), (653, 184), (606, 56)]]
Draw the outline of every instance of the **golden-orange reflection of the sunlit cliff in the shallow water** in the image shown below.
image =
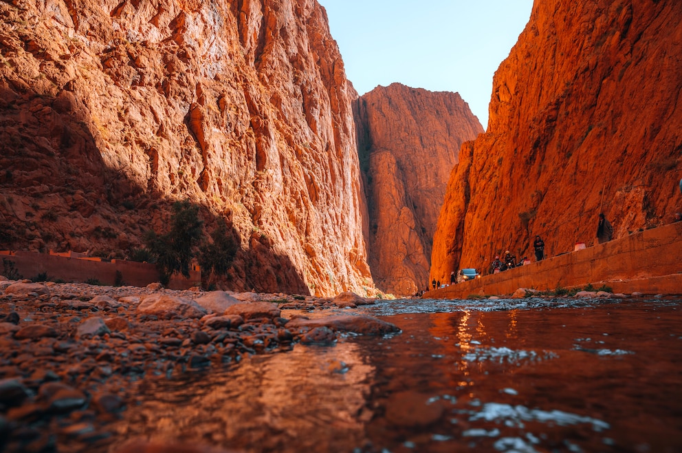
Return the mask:
[(201, 439), (245, 452), (344, 451), (361, 445), (373, 381), (357, 344), (299, 345), (228, 370), (140, 385), (126, 439)]

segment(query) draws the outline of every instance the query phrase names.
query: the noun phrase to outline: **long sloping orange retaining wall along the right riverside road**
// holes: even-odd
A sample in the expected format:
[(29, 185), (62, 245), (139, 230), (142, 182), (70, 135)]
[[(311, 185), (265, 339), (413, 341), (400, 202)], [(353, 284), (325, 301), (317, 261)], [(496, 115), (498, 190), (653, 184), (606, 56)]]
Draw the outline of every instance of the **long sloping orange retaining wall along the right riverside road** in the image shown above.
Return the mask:
[(508, 295), (606, 284), (617, 293), (682, 295), (682, 222), (640, 231), (476, 280), (424, 293), (423, 298)]

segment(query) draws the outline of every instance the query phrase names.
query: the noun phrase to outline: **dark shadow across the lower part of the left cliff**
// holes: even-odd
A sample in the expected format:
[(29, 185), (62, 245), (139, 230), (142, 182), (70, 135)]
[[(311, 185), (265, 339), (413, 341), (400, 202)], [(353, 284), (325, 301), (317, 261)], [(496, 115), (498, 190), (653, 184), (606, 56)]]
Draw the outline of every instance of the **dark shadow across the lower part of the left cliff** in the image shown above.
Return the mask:
[[(124, 257), (146, 231), (164, 233), (173, 200), (108, 166), (94, 136), (100, 129), (72, 92), (48, 96), (0, 82), (0, 250)], [(217, 216), (201, 204), (199, 212), (210, 231)], [(243, 244), (234, 227), (228, 234)], [(237, 291), (309, 295), (262, 233), (239, 249), (228, 276), (224, 286)]]

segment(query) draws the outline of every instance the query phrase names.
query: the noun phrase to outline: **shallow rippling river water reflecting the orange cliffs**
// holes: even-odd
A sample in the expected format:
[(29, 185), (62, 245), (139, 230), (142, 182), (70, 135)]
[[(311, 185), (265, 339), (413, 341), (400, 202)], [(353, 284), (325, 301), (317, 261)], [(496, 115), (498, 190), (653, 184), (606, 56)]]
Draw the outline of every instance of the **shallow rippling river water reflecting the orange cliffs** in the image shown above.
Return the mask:
[(402, 333), (142, 381), (112, 440), (241, 452), (682, 452), (679, 299), (405, 299), (350, 311)]

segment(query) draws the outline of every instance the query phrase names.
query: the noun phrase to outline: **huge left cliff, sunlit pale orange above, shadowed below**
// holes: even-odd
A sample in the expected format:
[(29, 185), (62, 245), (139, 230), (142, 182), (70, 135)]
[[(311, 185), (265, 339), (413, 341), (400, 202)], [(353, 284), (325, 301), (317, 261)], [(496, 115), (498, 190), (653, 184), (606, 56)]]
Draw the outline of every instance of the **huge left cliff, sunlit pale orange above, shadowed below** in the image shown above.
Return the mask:
[(351, 101), (314, 0), (0, 2), (0, 249), (123, 257), (222, 216), (230, 287), (373, 291)]

